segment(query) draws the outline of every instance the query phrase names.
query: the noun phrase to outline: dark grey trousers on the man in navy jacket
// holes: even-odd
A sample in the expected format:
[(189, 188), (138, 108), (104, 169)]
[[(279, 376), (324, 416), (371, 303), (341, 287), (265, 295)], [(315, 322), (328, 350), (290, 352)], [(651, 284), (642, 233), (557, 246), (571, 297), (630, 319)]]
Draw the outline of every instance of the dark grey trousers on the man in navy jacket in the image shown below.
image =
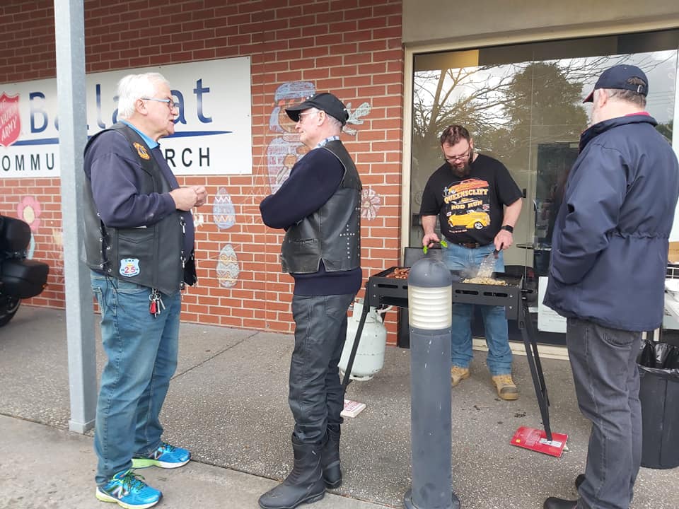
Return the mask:
[(578, 406), (592, 421), (578, 509), (629, 509), (642, 462), (641, 341), (641, 332), (567, 320)]

